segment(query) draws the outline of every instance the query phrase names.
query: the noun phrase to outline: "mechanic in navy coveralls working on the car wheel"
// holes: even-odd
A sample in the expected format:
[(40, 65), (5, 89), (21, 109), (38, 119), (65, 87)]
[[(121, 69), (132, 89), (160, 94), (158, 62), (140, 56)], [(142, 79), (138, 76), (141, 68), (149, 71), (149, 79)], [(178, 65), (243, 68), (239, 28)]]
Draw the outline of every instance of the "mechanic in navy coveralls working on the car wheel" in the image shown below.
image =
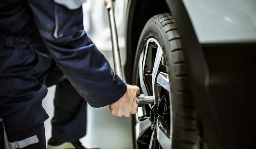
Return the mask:
[(1, 149), (46, 149), (48, 115), (42, 100), (47, 86), (58, 82), (52, 147), (54, 143), (79, 144), (76, 141), (84, 135), (80, 131), (86, 129), (85, 122), (76, 123), (86, 121), (86, 102), (81, 98), (92, 107), (108, 105), (116, 116), (129, 117), (138, 111), (139, 88), (125, 84), (88, 39), (83, 2), (0, 2)]

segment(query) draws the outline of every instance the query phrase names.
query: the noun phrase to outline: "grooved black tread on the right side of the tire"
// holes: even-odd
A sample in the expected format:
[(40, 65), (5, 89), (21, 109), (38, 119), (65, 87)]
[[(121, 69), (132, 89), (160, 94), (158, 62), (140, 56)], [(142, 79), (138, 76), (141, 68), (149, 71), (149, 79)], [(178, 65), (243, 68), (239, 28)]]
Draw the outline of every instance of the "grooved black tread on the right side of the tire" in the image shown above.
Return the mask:
[[(177, 116), (180, 116), (181, 119), (179, 146), (184, 149), (194, 149), (198, 145), (197, 116), (189, 85), (187, 65), (180, 41), (180, 34), (177, 31), (175, 20), (171, 14), (160, 14), (151, 19), (159, 21), (161, 30), (166, 34), (170, 44), (169, 50), (172, 55), (177, 88), (176, 98), (179, 105)], [(168, 73), (170, 74), (170, 72)]]

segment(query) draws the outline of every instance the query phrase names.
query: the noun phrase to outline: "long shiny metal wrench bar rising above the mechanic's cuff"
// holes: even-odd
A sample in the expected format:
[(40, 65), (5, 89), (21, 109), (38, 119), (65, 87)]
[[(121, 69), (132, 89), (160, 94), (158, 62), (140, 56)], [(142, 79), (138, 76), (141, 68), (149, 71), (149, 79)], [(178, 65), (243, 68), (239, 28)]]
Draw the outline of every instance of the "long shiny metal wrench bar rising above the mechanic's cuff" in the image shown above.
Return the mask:
[(120, 57), (120, 51), (119, 51), (119, 45), (118, 45), (116, 20), (114, 17), (113, 0), (111, 0), (111, 7), (110, 9), (108, 9), (108, 20), (109, 20), (110, 32), (111, 32), (114, 70), (116, 71), (117, 75), (123, 80), (123, 71), (122, 71), (121, 57)]

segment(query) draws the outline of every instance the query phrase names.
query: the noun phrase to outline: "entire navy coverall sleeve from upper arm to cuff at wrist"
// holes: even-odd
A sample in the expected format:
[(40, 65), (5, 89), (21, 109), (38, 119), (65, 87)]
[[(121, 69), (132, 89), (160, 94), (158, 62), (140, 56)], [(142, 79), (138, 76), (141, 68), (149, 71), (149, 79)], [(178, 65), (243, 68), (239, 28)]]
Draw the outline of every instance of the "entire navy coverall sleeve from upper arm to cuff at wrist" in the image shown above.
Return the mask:
[(53, 0), (27, 1), (50, 55), (80, 95), (92, 107), (118, 101), (127, 86), (90, 43), (82, 7), (70, 10)]

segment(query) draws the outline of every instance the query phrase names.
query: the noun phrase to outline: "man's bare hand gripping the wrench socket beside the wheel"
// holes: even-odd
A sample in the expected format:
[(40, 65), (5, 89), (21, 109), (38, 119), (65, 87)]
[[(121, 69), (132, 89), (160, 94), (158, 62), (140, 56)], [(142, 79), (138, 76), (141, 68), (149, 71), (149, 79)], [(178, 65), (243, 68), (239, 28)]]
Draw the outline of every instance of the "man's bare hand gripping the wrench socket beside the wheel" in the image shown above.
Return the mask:
[(139, 94), (139, 91), (139, 87), (127, 84), (127, 91), (123, 97), (117, 102), (109, 105), (111, 114), (120, 117), (130, 117), (130, 115), (137, 113), (137, 95)]

